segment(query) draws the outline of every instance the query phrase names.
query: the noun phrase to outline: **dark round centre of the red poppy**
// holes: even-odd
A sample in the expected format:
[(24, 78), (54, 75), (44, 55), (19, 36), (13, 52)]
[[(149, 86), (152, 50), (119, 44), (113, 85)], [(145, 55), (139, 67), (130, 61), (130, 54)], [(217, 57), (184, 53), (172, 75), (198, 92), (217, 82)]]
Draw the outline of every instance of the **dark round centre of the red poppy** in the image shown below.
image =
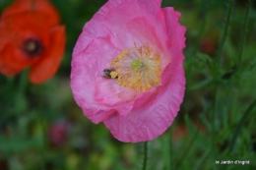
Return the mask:
[(41, 42), (36, 38), (28, 38), (23, 42), (23, 51), (29, 57), (34, 57), (40, 55), (42, 52), (43, 46)]

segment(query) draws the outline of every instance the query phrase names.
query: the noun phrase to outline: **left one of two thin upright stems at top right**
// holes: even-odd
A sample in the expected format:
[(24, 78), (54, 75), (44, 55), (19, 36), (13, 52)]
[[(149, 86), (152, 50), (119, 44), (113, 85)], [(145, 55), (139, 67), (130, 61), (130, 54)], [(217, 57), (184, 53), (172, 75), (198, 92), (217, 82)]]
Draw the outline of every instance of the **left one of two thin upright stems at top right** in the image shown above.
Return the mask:
[(230, 25), (230, 21), (231, 21), (231, 14), (232, 14), (232, 10), (233, 10), (233, 4), (234, 4), (234, 0), (229, 0), (228, 2), (228, 9), (227, 9), (227, 18), (224, 24), (224, 34), (222, 36), (221, 42), (219, 44), (219, 48), (217, 51), (217, 55), (216, 55), (216, 61), (217, 64), (219, 66), (219, 68), (221, 68), (221, 62), (222, 62), (222, 55), (223, 55), (223, 51), (224, 51), (224, 42), (226, 40), (227, 37), (227, 33), (228, 33), (228, 28)]

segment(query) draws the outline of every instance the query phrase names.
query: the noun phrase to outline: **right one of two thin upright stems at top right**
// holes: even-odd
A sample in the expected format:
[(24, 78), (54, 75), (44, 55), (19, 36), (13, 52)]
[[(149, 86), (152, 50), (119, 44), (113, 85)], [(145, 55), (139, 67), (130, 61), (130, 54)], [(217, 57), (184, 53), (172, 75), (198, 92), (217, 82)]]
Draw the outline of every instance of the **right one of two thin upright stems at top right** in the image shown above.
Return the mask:
[(247, 33), (247, 28), (248, 28), (248, 23), (249, 23), (249, 14), (250, 14), (250, 9), (252, 6), (252, 1), (253, 0), (248, 0), (247, 3), (247, 8), (245, 11), (245, 16), (244, 16), (244, 22), (242, 26), (242, 39), (240, 43), (240, 51), (239, 51), (239, 58), (238, 58), (238, 68), (240, 69), (242, 66), (242, 56), (243, 56), (243, 51), (244, 51), (244, 46), (245, 46), (245, 40), (246, 40), (246, 33)]

